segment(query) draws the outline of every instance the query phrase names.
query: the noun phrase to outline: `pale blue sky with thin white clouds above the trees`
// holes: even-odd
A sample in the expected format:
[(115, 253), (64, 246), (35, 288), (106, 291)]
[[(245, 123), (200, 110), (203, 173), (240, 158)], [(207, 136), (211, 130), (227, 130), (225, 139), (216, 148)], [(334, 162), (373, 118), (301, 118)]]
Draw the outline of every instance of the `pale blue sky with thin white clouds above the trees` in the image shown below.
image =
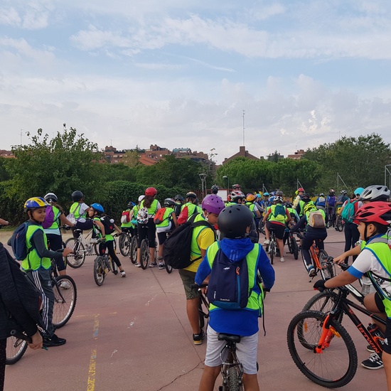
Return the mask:
[(286, 156), (391, 143), (390, 0), (0, 0), (0, 149), (76, 128)]

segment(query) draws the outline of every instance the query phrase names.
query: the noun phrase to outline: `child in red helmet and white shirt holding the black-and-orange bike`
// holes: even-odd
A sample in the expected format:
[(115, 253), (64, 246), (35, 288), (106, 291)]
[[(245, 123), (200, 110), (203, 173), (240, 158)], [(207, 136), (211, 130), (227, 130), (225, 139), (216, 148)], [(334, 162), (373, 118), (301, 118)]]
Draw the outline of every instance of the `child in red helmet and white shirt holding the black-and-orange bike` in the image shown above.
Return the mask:
[(378, 201), (363, 205), (357, 210), (355, 220), (358, 221), (360, 238), (365, 241), (360, 255), (348, 270), (328, 281), (318, 280), (314, 288), (321, 290), (352, 284), (368, 272), (376, 293), (367, 294), (364, 305), (368, 311), (387, 318), (387, 324), (377, 325), (385, 333), (382, 357), (373, 353), (361, 365), (378, 369), (383, 368), (384, 364), (387, 390), (391, 391), (391, 343), (386, 342), (391, 341), (391, 250), (387, 238), (383, 236), (390, 229), (391, 203)]

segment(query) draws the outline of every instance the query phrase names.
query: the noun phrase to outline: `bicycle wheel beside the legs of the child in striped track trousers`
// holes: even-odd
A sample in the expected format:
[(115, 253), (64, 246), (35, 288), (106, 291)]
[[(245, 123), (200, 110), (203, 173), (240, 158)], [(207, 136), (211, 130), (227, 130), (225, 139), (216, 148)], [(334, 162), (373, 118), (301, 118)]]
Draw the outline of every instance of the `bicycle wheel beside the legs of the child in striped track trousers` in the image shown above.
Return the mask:
[(75, 281), (70, 276), (58, 276), (53, 284), (54, 306), (53, 326), (63, 327), (75, 311), (77, 289)]

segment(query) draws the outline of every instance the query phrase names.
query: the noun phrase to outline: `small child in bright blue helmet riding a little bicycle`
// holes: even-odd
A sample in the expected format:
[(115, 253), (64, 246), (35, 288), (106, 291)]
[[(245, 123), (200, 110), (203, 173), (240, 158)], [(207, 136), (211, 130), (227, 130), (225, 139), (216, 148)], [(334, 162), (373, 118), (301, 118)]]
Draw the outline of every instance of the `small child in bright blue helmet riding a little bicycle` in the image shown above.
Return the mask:
[[(127, 277), (127, 274), (122, 268), (122, 264), (119, 262), (117, 254), (115, 253), (114, 237), (111, 234), (105, 233), (105, 225), (103, 225), (102, 221), (100, 221), (100, 216), (102, 213), (105, 213), (105, 209), (103, 209), (100, 203), (93, 203), (90, 207), (90, 210), (88, 210), (88, 215), (92, 219), (93, 229), (97, 237), (105, 239), (105, 242), (100, 243), (99, 252), (100, 254), (104, 254), (107, 248), (107, 250), (109, 250), (110, 257), (117, 264), (119, 272), (121, 272), (121, 277)], [(117, 225), (114, 224), (114, 228), (118, 233), (121, 233), (121, 230), (119, 227), (117, 227)]]

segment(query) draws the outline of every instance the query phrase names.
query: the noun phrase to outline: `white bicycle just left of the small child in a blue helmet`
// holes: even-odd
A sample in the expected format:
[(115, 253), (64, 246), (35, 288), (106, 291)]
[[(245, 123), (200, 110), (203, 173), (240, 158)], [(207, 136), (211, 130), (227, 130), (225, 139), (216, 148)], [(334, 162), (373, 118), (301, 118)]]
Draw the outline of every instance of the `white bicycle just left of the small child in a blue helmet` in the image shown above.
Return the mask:
[(93, 230), (87, 233), (85, 237), (82, 236), (82, 230), (75, 230), (78, 237), (70, 237), (65, 241), (65, 247), (70, 247), (73, 252), (65, 257), (67, 264), (73, 269), (81, 267), (85, 262), (86, 255), (92, 255), (92, 250), (99, 255), (97, 240), (91, 237)]

